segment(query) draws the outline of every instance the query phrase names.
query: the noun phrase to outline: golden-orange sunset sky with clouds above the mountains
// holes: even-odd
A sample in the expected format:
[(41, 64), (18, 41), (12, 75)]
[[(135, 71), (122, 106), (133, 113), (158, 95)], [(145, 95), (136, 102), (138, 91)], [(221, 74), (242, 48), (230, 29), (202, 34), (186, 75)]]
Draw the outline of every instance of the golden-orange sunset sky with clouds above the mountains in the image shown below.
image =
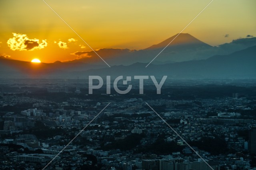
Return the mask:
[[(94, 50), (138, 50), (179, 33), (211, 0), (45, 1)], [(256, 36), (255, 6), (214, 0), (182, 33), (212, 46)], [(52, 63), (92, 51), (42, 0), (1, 0), (0, 28), (0, 55), (12, 59)]]

